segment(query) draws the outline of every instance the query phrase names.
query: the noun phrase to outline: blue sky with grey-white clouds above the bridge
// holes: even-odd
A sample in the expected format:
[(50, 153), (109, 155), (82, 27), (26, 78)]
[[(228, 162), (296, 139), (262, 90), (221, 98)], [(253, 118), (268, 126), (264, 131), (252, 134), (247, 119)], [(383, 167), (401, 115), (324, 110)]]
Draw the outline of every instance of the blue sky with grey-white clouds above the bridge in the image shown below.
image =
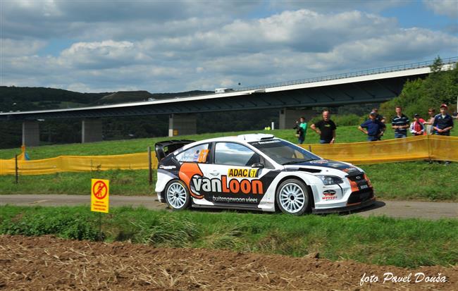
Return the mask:
[(456, 0), (0, 0), (2, 86), (213, 90), (436, 56), (458, 56)]

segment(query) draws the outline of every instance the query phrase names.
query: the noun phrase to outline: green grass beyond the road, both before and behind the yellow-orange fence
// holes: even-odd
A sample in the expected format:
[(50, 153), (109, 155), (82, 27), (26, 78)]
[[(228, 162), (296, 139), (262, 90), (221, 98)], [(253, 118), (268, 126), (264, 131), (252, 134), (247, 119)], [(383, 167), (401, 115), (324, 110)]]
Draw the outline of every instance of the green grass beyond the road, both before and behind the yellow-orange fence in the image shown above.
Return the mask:
[[(294, 130), (273, 130), (274, 135), (295, 142)], [(454, 130), (455, 135), (458, 130)], [(220, 132), (180, 137), (203, 140), (211, 137), (239, 135), (246, 132)], [(388, 130), (385, 139), (392, 138)], [(338, 142), (361, 142), (364, 135), (356, 127), (339, 127)], [(27, 149), (32, 159), (45, 159), (59, 155), (128, 154), (146, 151), (155, 142), (168, 137), (151, 139), (95, 142), (89, 144), (64, 144)], [(318, 142), (312, 130), (307, 133), (306, 143)], [(10, 158), (18, 149), (0, 150), (0, 158)], [(371, 178), (380, 199), (417, 199), (435, 201), (458, 201), (458, 163), (445, 166), (423, 161), (404, 163), (380, 163), (361, 166)], [(156, 173), (153, 175), (156, 178)], [(90, 179), (111, 181), (111, 193), (121, 195), (151, 195), (154, 185), (148, 184), (147, 171), (104, 171), (87, 173), (58, 173), (53, 175), (25, 175), (14, 183), (12, 175), (0, 176), (0, 194), (89, 194)], [(155, 182), (155, 181), (154, 181)], [(39, 187), (37, 187), (39, 185)]]

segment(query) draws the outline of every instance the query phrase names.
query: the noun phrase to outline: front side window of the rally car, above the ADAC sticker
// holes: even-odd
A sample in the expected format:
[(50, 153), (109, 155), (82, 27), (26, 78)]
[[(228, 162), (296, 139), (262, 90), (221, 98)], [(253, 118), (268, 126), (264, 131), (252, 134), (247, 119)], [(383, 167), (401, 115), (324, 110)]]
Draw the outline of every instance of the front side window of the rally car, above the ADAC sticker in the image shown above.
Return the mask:
[(252, 149), (234, 142), (218, 142), (214, 154), (218, 165), (252, 166), (261, 161), (259, 154)]

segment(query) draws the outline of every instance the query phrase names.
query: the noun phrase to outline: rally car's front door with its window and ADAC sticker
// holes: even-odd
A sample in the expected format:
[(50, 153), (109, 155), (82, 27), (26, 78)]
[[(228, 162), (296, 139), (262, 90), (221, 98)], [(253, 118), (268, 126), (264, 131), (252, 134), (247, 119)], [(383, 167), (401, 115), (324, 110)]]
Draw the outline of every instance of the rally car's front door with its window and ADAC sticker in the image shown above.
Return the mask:
[(204, 180), (199, 182), (207, 201), (215, 205), (256, 208), (264, 196), (259, 179), (261, 156), (244, 144), (216, 142), (212, 162), (201, 165)]

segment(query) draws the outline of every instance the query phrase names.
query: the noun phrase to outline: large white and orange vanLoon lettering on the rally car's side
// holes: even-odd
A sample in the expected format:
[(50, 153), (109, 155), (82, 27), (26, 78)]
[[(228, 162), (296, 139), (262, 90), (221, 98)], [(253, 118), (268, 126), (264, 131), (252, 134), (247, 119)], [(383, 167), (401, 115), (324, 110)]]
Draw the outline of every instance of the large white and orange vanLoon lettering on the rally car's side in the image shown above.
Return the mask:
[(193, 175), (191, 189), (198, 193), (218, 194), (264, 194), (261, 180), (229, 179), (226, 175), (218, 178), (205, 178), (202, 175)]

